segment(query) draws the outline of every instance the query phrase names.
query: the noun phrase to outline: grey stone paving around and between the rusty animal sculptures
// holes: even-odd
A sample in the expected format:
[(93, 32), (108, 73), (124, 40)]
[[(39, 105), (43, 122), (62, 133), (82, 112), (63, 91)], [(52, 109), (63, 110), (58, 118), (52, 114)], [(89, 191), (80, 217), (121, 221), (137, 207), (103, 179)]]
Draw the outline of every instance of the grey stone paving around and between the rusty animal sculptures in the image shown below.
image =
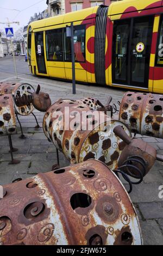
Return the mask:
[[(18, 80), (10, 78), (5, 81), (28, 82), (35, 87), (39, 83), (41, 88), (48, 92), (52, 102), (60, 98), (82, 99), (82, 97), (94, 96), (105, 103), (107, 97), (112, 95), (113, 102), (122, 99), (124, 90), (112, 89), (99, 86), (77, 84), (77, 94), (72, 95), (72, 84), (68, 82), (55, 81), (47, 78), (32, 76), (29, 74), (20, 76)], [(34, 111), (39, 120), (40, 129), (34, 129), (35, 120), (33, 115), (20, 117), (26, 139), (20, 139), (18, 135), (12, 136), (14, 147), (18, 151), (14, 153), (16, 159), (21, 160), (20, 164), (9, 165), (10, 154), (8, 137), (1, 137), (0, 141), (0, 184), (8, 184), (12, 180), (21, 177), (22, 179), (33, 176), (39, 172), (48, 172), (54, 163), (57, 162), (55, 148), (49, 143), (42, 130), (43, 113)], [(18, 126), (19, 127), (19, 126)], [(141, 137), (141, 136), (137, 136)], [(159, 154), (163, 154), (163, 140), (153, 137), (143, 137), (153, 145)], [(64, 155), (59, 153), (61, 167), (70, 163), (65, 160)], [(139, 215), (142, 236), (145, 245), (163, 245), (163, 199), (159, 198), (159, 186), (163, 185), (163, 165), (156, 162), (154, 167), (145, 177), (140, 185), (133, 187), (130, 197), (134, 202), (137, 214)]]

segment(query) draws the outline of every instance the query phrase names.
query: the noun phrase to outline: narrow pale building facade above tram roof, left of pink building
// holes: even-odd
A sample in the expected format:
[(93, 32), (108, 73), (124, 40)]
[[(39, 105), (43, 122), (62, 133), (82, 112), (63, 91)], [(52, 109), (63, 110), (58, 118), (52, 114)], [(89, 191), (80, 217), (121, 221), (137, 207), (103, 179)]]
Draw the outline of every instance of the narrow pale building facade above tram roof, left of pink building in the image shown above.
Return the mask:
[(65, 14), (65, 4), (67, 0), (47, 0), (48, 16), (53, 17), (60, 14)]

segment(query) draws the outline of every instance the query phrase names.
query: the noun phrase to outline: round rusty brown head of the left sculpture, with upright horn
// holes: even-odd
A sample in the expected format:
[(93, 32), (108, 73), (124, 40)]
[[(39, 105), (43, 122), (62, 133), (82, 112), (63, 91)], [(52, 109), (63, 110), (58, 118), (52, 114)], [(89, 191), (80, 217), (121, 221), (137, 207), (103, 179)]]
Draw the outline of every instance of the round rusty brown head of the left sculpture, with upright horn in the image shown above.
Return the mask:
[(52, 102), (47, 93), (40, 92), (40, 85), (38, 84), (36, 92), (33, 93), (33, 106), (41, 111), (46, 112)]

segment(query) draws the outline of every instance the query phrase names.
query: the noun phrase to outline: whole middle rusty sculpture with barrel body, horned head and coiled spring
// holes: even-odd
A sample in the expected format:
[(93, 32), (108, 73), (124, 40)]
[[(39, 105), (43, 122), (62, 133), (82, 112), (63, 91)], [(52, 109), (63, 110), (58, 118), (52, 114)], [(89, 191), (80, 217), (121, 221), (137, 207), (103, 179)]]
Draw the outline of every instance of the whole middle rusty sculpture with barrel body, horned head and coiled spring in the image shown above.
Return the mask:
[[(69, 111), (68, 116), (66, 108)], [(128, 193), (130, 193), (132, 185), (140, 184), (155, 160), (163, 161), (162, 157), (156, 155), (155, 148), (141, 139), (131, 139), (129, 129), (122, 122), (114, 119), (107, 121), (103, 112), (101, 115), (104, 121), (96, 124), (92, 109), (106, 111), (110, 109), (110, 105), (102, 107), (101, 103), (91, 98), (78, 101), (60, 99), (47, 110), (43, 118), (43, 131), (57, 148), (57, 166), (59, 166), (58, 150), (64, 153), (71, 163), (88, 159), (100, 160), (117, 175), (122, 174), (129, 183)], [(87, 113), (85, 118), (83, 112)], [(79, 123), (75, 118), (78, 114)], [(66, 129), (66, 123), (72, 126)], [(92, 129), (82, 129), (83, 123), (85, 123), (84, 127), (92, 124)], [(132, 181), (129, 176), (139, 180)]]

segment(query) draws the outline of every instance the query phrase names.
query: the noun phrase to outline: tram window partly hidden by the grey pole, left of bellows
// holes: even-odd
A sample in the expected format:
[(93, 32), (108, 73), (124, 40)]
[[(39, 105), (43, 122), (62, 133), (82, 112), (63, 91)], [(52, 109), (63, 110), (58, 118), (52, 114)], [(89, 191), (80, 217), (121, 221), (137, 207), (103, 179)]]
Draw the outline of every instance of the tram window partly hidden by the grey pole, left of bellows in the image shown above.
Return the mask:
[[(76, 62), (85, 62), (85, 26), (74, 28), (74, 54)], [(71, 62), (71, 38), (65, 31), (65, 61)]]

